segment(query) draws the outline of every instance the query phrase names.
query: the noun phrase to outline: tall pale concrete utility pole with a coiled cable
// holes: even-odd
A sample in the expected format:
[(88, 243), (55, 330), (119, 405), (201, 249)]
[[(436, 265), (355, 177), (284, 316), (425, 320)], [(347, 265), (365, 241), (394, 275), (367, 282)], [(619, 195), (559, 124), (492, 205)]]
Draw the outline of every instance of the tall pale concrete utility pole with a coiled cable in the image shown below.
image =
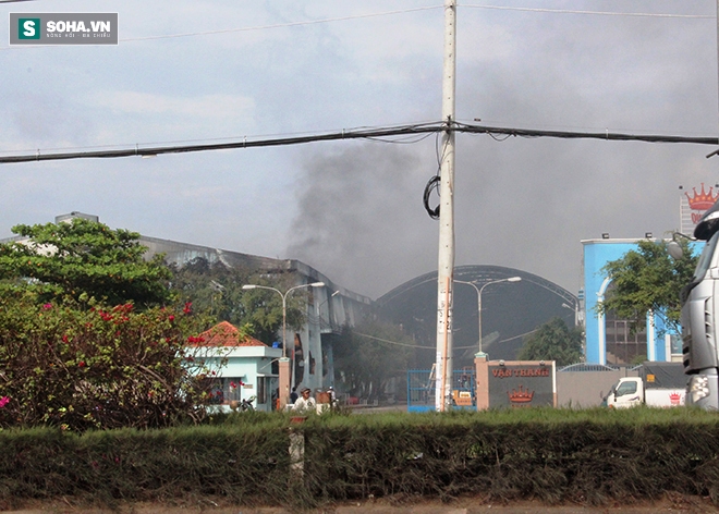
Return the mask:
[[(719, 1), (719, 0), (717, 0)], [(452, 395), (452, 290), (454, 287), (454, 89), (456, 0), (444, 0), (444, 65), (440, 155), (439, 266), (437, 269), (437, 365), (435, 407), (447, 409)]]

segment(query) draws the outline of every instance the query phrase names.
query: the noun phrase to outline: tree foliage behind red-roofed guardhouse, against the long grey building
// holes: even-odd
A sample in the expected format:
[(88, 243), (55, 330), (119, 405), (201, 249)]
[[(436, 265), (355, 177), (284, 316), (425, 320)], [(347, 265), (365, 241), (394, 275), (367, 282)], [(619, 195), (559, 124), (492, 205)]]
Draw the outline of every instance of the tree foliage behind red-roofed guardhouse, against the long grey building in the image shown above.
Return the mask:
[[(219, 321), (229, 321), (236, 327), (247, 327), (253, 336), (267, 344), (281, 335), (280, 295), (263, 289), (245, 291), (242, 286), (252, 283), (285, 292), (296, 285), (293, 274), (258, 276), (222, 262), (210, 264), (202, 257), (173, 268), (173, 273), (172, 289), (182, 299), (192, 302), (198, 311), (206, 311)], [(303, 326), (307, 294), (308, 291), (303, 290), (290, 293), (287, 299), (288, 330)], [(290, 334), (288, 339), (291, 339)]]

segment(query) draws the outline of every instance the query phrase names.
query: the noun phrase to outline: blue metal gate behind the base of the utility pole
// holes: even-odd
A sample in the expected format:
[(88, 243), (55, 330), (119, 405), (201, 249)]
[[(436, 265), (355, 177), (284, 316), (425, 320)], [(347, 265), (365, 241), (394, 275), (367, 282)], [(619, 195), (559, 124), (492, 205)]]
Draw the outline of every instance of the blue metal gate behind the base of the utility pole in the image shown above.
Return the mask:
[[(452, 407), (477, 408), (476, 371), (474, 368), (455, 369), (452, 372)], [(435, 411), (437, 378), (434, 369), (411, 369), (407, 371), (407, 411)]]

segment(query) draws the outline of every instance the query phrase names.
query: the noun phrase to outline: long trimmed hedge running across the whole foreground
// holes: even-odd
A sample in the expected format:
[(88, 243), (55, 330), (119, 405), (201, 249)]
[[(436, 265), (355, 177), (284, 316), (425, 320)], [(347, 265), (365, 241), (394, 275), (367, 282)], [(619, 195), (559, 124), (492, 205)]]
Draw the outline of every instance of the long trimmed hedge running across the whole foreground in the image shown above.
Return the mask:
[[(304, 469), (290, 437), (304, 438)], [(83, 435), (0, 431), (0, 507), (26, 499), (220, 498), (316, 506), (370, 494), (549, 504), (708, 495), (719, 504), (719, 419), (691, 409), (331, 415)]]

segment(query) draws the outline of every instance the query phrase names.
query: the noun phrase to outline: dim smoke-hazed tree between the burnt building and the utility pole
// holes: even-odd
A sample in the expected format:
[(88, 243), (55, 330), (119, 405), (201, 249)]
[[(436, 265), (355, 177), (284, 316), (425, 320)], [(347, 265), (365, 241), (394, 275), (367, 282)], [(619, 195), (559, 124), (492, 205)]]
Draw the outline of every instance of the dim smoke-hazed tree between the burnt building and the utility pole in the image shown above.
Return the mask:
[(351, 394), (378, 397), (390, 379), (406, 378), (414, 342), (394, 325), (365, 319), (334, 338), (334, 375)]

